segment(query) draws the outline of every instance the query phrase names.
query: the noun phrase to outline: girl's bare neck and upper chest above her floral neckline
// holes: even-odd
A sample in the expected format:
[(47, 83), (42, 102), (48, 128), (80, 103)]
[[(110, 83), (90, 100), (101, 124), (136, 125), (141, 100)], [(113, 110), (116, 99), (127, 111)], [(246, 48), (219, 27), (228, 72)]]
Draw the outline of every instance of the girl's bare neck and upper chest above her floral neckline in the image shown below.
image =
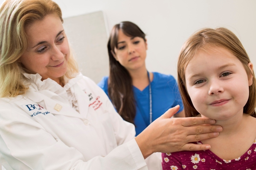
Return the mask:
[(210, 144), (210, 150), (221, 159), (232, 160), (242, 156), (256, 139), (256, 119), (247, 114), (218, 120), (216, 125), (221, 125), (223, 129), (219, 136), (201, 142)]

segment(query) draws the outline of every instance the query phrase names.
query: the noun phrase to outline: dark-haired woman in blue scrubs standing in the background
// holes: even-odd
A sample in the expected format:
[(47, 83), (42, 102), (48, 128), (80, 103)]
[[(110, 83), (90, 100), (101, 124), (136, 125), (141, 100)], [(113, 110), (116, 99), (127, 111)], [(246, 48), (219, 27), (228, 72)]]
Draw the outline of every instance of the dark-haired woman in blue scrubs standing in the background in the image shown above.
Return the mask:
[(145, 34), (136, 24), (116, 24), (108, 40), (110, 74), (98, 84), (122, 118), (135, 125), (136, 135), (176, 105), (180, 110), (174, 117), (184, 116), (175, 78), (147, 70), (147, 48)]

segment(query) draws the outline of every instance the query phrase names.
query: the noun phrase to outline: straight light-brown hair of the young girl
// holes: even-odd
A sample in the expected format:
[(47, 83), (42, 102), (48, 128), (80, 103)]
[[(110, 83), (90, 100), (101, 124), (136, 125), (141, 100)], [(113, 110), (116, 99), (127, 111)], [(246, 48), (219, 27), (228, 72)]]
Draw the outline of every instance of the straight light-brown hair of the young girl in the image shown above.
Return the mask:
[(199, 51), (205, 51), (209, 49), (209, 47), (214, 46), (224, 48), (234, 54), (243, 64), (244, 69), (247, 72), (247, 77), (249, 78), (253, 76), (253, 83), (249, 86), (249, 98), (246, 105), (244, 106), (244, 113), (255, 117), (256, 79), (254, 71), (251, 71), (248, 66), (250, 58), (236, 35), (227, 28), (204, 28), (189, 37), (189, 39), (183, 44), (181, 48), (178, 59), (177, 72), (178, 85), (183, 100), (186, 117), (197, 116), (199, 114), (193, 106), (189, 94), (186, 91), (186, 66)]

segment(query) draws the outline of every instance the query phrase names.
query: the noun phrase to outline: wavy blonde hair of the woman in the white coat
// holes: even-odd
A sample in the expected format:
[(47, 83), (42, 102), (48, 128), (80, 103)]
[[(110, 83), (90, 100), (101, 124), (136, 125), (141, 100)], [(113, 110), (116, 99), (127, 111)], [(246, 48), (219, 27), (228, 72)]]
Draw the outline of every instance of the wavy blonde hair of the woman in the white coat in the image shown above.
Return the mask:
[[(17, 62), (27, 48), (25, 28), (48, 14), (56, 14), (63, 22), (61, 9), (52, 0), (6, 0), (0, 7), (0, 97), (15, 97), (28, 89), (22, 74), (27, 71)], [(77, 72), (70, 54), (65, 76), (72, 78)]]

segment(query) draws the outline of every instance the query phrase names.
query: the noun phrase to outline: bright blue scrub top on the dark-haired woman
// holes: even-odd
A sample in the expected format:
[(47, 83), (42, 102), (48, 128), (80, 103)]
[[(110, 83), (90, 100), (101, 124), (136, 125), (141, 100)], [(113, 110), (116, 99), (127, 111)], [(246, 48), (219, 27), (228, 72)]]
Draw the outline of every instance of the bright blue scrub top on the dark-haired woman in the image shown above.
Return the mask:
[[(178, 113), (183, 111), (183, 103), (175, 78), (172, 75), (157, 72), (153, 72), (153, 74), (154, 78), (151, 82), (152, 121), (160, 117), (169, 108), (173, 108), (176, 105), (180, 105)], [(103, 77), (98, 85), (108, 95), (108, 77)], [(149, 85), (143, 91), (133, 86), (133, 91), (135, 100), (137, 101), (136, 116), (134, 119), (137, 136), (149, 124)], [(144, 113), (141, 113), (140, 110), (143, 110)], [(147, 122), (145, 122), (145, 119)]]

